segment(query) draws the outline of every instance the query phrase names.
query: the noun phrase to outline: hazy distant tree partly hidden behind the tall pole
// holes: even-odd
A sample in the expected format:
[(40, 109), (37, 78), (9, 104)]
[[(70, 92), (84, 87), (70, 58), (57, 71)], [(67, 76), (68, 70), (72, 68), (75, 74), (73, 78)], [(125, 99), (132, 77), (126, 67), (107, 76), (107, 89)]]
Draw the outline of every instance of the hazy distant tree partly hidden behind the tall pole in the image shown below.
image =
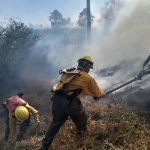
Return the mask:
[[(94, 21), (94, 16), (91, 15), (91, 23), (93, 23), (93, 21)], [(77, 24), (80, 27), (86, 27), (87, 26), (87, 8), (84, 8), (82, 10), (82, 12), (80, 12)]]

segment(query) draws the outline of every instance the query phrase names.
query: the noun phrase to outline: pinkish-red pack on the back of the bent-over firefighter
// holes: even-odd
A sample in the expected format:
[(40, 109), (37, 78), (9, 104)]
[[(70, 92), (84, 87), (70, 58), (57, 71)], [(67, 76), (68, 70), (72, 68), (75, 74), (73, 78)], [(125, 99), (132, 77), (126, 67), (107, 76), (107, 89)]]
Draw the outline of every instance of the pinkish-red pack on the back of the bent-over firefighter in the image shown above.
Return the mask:
[(7, 99), (7, 108), (9, 111), (14, 111), (17, 106), (25, 105), (27, 102), (24, 101), (22, 98), (19, 96), (11, 96)]

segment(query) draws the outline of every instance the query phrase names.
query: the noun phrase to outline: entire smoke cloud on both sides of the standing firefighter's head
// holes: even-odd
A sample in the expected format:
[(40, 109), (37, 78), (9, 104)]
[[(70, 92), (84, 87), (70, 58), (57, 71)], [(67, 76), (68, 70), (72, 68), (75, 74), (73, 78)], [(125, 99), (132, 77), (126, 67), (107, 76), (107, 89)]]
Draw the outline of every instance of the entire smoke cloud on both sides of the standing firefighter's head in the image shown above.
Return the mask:
[[(109, 29), (102, 27), (105, 25), (103, 22), (92, 29), (91, 43), (86, 43), (85, 31), (79, 28), (65, 29), (57, 33), (50, 29), (40, 31), (41, 40), (33, 54), (36, 52), (43, 59), (36, 63), (35, 59), (31, 59), (33, 61), (26, 66), (33, 64), (36, 65), (36, 69), (25, 69), (23, 75), (26, 78), (30, 74), (32, 78), (35, 78), (35, 75), (38, 79), (55, 81), (60, 69), (76, 67), (78, 58), (90, 55), (94, 60), (91, 75), (107, 91), (135, 77), (142, 69), (142, 64), (150, 53), (149, 15), (149, 1), (128, 1), (118, 12)], [(105, 75), (109, 71), (111, 75)], [(145, 80), (138, 83), (148, 87), (148, 79)], [(139, 86), (138, 83), (134, 85)]]

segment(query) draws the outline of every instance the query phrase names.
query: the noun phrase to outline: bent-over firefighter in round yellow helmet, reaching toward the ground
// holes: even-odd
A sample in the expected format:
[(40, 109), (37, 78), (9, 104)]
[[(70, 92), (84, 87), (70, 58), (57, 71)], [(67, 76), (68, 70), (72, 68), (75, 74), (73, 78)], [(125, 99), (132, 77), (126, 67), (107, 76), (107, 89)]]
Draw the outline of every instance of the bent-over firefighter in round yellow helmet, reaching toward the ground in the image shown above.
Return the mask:
[(30, 123), (30, 113), (33, 115), (35, 122), (39, 125), (39, 114), (38, 111), (30, 106), (23, 98), (18, 95), (11, 96), (7, 100), (6, 104), (9, 110), (9, 128), (11, 135), (11, 142), (16, 142), (16, 125), (20, 124), (20, 132), (17, 140), (23, 139), (27, 128)]

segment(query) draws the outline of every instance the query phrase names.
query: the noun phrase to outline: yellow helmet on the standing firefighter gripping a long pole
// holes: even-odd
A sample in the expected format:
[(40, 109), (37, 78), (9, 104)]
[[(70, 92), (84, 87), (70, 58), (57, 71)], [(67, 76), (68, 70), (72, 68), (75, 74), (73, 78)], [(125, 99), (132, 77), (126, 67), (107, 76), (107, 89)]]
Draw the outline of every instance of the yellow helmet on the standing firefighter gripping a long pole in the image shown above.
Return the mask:
[(93, 64), (94, 63), (93, 63), (93, 60), (92, 60), (91, 56), (86, 55), (86, 56), (81, 57), (80, 59), (78, 59), (78, 63), (80, 65), (86, 65), (89, 68), (93, 69)]

